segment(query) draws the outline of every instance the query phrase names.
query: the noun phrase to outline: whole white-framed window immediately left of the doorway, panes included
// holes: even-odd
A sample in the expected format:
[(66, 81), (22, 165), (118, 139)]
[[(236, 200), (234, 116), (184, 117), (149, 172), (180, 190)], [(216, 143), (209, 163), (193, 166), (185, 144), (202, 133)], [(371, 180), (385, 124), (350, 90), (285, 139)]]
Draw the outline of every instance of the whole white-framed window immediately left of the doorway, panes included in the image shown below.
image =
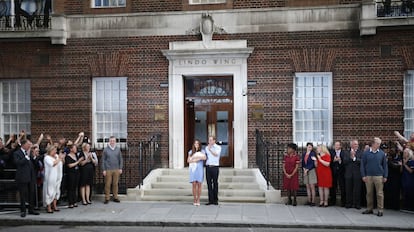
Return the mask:
[(103, 148), (110, 136), (127, 141), (127, 78), (99, 77), (92, 84), (93, 141)]

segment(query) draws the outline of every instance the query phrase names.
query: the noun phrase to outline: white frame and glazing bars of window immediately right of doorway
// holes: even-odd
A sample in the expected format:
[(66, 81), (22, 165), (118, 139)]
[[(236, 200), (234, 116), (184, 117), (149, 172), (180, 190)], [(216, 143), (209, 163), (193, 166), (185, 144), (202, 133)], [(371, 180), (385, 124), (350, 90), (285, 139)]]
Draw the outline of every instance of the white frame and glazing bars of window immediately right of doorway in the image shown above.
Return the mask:
[[(297, 86), (298, 83), (297, 83), (296, 80), (298, 78), (307, 78), (307, 77), (327, 78), (327, 83), (326, 83), (325, 87), (323, 87), (323, 86), (313, 86), (313, 87), (309, 86), (308, 87), (308, 88), (311, 88), (314, 91), (314, 93), (312, 93), (312, 99), (314, 99), (314, 100), (315, 100), (315, 97), (314, 97), (315, 95), (314, 94), (316, 93), (315, 91), (317, 91), (315, 88), (322, 88), (323, 89), (323, 92), (322, 92), (323, 95), (319, 96), (319, 98), (322, 101), (321, 102), (322, 107), (323, 107), (323, 99), (325, 99), (327, 101), (327, 103), (325, 104), (325, 105), (327, 105), (326, 109), (325, 109), (325, 111), (326, 111), (325, 112), (325, 114), (326, 114), (325, 117), (327, 118), (327, 122), (325, 122), (325, 125), (327, 126), (327, 128), (323, 128), (323, 123), (324, 123), (325, 120), (321, 119), (320, 123), (319, 123), (319, 126), (321, 126), (321, 130), (324, 130), (324, 132), (318, 133), (318, 132), (315, 132), (313, 130), (303, 129), (302, 130), (303, 134), (302, 134), (301, 137), (299, 137), (299, 136), (297, 136), (297, 132), (298, 132), (297, 130), (299, 130), (299, 128), (296, 124), (296, 120), (297, 120), (296, 113), (297, 112), (298, 113), (299, 112), (303, 112), (303, 113), (306, 113), (306, 112), (313, 113), (313, 112), (315, 112), (315, 108), (306, 108), (306, 109), (297, 108), (297, 107), (300, 107), (300, 106), (298, 106), (299, 104), (297, 104), (297, 100), (300, 101), (300, 99), (302, 99), (301, 105), (306, 105), (304, 101), (305, 101), (305, 99), (309, 100), (309, 97), (307, 97), (305, 95), (306, 94), (305, 93), (305, 86), (303, 86), (303, 87)], [(333, 141), (333, 135), (332, 135), (333, 134), (332, 133), (332, 131), (333, 131), (333, 123), (332, 123), (333, 122), (333, 96), (332, 96), (333, 77), (332, 77), (332, 73), (331, 72), (303, 72), (303, 73), (298, 72), (298, 73), (295, 73), (293, 78), (294, 78), (294, 81), (293, 81), (293, 96), (292, 96), (292, 101), (293, 101), (293, 107), (292, 107), (292, 110), (293, 110), (293, 117), (292, 117), (293, 141), (295, 143), (297, 143), (299, 146), (306, 146), (307, 142), (311, 142), (314, 145), (317, 145), (317, 144), (329, 145), (329, 144), (331, 144), (332, 141)], [(300, 91), (300, 90), (298, 90), (297, 88), (302, 88), (302, 92), (304, 92), (304, 95), (301, 95), (300, 97), (298, 97), (300, 99), (297, 99), (297, 97), (296, 97), (297, 94), (301, 94), (301, 93), (298, 93), (298, 91)], [(315, 102), (312, 102), (312, 104), (314, 104), (314, 103)], [(320, 110), (322, 110), (322, 108)], [(311, 115), (311, 118), (313, 118), (313, 114), (309, 114), (309, 115)], [(311, 121), (311, 120), (308, 120), (308, 122)], [(311, 121), (311, 122), (315, 122), (315, 121)], [(306, 123), (306, 120), (303, 120), (302, 123), (303, 124)], [(313, 125), (315, 125), (315, 124), (313, 124)], [(302, 126), (302, 128), (305, 128), (304, 125)], [(309, 139), (309, 141), (307, 141), (306, 140), (307, 138), (305, 138), (306, 136), (304, 134), (306, 134), (306, 133), (312, 133), (313, 134), (311, 136), (311, 139)], [(318, 133), (319, 135), (315, 135), (315, 133)], [(299, 137), (299, 138), (297, 138), (297, 137)]]

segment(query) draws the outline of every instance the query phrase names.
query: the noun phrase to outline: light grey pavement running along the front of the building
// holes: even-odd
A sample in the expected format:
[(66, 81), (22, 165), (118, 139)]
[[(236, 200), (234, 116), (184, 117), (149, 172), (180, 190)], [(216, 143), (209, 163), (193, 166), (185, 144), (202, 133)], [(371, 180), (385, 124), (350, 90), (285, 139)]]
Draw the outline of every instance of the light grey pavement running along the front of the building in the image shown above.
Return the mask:
[[(327, 208), (284, 204), (219, 203), (194, 206), (190, 202), (121, 201), (91, 205), (60, 212), (20, 217), (18, 210), (0, 211), (2, 226), (183, 226), (183, 227), (250, 227), (309, 228), (414, 231), (414, 214), (385, 210), (383, 217), (363, 215), (364, 209)], [(376, 211), (374, 210), (374, 213)]]

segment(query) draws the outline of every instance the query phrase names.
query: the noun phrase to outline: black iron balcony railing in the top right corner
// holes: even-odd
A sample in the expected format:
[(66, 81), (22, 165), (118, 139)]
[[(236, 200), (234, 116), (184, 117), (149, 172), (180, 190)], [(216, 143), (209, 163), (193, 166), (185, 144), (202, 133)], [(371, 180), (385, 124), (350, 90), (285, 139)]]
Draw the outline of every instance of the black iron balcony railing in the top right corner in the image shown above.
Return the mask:
[(414, 16), (414, 0), (377, 0), (377, 17)]

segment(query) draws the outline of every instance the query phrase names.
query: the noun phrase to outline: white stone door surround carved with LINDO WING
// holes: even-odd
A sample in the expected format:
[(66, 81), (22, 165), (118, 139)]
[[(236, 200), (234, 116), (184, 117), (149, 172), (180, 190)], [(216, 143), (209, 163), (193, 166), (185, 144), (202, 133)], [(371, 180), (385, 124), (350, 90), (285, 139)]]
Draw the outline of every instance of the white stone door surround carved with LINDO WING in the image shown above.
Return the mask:
[[(169, 60), (169, 168), (183, 168), (184, 76), (233, 76), (234, 168), (248, 168), (246, 40), (171, 42), (162, 53)], [(188, 148), (189, 149), (189, 148)]]

